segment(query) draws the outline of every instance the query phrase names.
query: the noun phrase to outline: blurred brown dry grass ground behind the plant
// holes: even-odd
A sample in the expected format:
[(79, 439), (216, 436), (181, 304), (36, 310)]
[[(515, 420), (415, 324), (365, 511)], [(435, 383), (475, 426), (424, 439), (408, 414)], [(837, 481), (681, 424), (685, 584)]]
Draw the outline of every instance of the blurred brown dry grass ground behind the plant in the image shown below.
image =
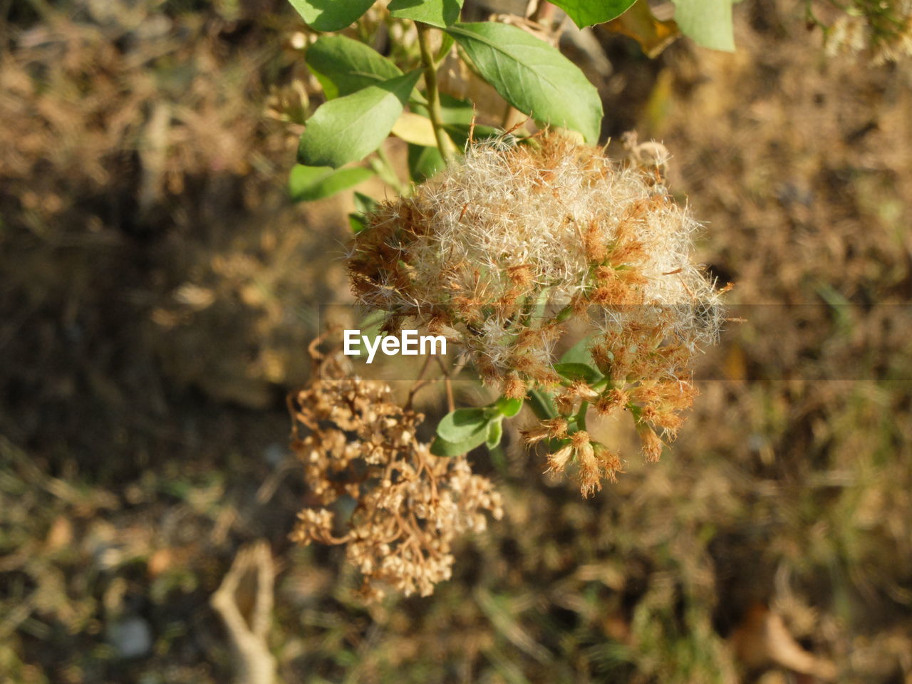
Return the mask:
[(287, 541), (285, 397), (349, 301), (350, 197), (286, 190), (305, 26), (0, 0), (0, 681), (230, 681), (210, 597), (260, 542), (289, 684), (912, 682), (912, 68), (828, 57), (791, 0), (735, 29), (733, 55), (566, 47), (605, 138), (670, 150), (746, 319), (678, 442), (582, 500), (513, 435), (474, 459), (506, 515), (452, 581), (365, 607), (343, 549)]

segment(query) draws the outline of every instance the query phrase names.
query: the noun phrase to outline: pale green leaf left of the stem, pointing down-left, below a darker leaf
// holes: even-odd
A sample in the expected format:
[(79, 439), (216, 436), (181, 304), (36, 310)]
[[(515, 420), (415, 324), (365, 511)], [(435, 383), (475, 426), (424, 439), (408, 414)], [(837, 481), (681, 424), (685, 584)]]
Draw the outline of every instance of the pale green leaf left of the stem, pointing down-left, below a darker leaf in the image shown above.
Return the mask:
[(338, 168), (376, 150), (399, 119), (420, 75), (416, 69), (320, 105), (301, 135), (298, 161)]

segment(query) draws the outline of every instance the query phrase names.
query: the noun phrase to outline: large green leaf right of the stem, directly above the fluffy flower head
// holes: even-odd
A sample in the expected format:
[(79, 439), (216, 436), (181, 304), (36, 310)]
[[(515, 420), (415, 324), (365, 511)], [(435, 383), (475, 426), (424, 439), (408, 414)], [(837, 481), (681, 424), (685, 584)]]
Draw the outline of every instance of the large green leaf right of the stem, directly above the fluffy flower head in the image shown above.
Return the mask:
[(586, 142), (598, 140), (598, 91), (556, 48), (506, 24), (454, 24), (446, 30), (482, 78), (513, 107), (534, 119), (577, 130)]

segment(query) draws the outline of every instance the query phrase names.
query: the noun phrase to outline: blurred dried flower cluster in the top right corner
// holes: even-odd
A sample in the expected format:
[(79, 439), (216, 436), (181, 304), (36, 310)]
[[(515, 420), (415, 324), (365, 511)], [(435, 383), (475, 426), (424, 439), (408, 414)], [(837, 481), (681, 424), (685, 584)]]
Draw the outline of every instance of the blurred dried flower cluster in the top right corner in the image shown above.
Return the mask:
[(873, 64), (912, 56), (912, 0), (853, 0), (845, 12), (825, 28), (830, 56), (866, 55)]

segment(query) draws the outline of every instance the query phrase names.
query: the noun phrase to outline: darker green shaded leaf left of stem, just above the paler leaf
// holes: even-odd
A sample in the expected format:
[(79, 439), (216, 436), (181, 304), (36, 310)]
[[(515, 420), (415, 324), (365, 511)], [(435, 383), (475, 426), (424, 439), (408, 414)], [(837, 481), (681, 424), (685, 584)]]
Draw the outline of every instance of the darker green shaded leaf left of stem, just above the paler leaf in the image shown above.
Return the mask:
[(377, 50), (345, 36), (320, 36), (307, 48), (305, 61), (323, 86), (326, 99), (350, 95), (402, 75), (399, 67)]

